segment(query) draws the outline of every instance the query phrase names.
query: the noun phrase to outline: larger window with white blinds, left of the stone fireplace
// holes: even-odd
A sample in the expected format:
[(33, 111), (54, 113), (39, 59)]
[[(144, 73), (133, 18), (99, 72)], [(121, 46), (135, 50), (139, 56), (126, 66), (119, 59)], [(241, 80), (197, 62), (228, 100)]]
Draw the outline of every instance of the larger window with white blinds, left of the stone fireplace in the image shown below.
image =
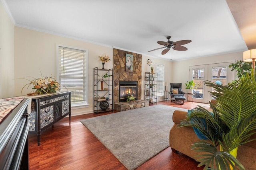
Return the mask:
[(58, 80), (62, 90), (72, 91), (71, 105), (87, 104), (88, 51), (58, 46)]

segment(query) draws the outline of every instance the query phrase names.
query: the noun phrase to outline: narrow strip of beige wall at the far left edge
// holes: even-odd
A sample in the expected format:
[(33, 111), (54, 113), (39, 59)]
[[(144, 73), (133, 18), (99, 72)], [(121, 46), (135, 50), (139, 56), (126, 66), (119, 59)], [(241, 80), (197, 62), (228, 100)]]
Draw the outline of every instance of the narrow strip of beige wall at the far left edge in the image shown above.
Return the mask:
[(0, 98), (14, 96), (14, 24), (0, 1)]

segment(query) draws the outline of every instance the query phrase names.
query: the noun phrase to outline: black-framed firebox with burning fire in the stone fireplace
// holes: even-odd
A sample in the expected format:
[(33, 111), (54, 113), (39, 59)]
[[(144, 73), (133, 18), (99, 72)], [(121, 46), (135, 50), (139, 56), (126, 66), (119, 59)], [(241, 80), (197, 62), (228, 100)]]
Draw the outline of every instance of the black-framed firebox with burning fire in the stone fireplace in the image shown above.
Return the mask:
[(119, 81), (119, 102), (124, 102), (128, 95), (133, 95), (137, 99), (138, 82)]

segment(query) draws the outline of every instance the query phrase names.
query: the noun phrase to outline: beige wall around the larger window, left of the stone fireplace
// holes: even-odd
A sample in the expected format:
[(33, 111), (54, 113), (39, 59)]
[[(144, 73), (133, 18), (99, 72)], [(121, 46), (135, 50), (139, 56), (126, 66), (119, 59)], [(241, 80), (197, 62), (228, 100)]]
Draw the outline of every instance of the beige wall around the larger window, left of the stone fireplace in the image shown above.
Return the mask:
[[(40, 78), (42, 76), (57, 76), (56, 45), (68, 45), (88, 50), (88, 103), (87, 108), (72, 109), (72, 115), (93, 112), (93, 68), (102, 68), (98, 56), (106, 53), (112, 61), (105, 64), (105, 68), (113, 68), (113, 48), (92, 43), (78, 41), (66, 37), (60, 37), (49, 33), (43, 33), (22, 27), (14, 28), (15, 45), (15, 94), (21, 95), (22, 87), (29, 83), (28, 80), (18, 79)], [(30, 88), (31, 89), (31, 88)], [(22, 95), (30, 93), (31, 90), (22, 91)]]

